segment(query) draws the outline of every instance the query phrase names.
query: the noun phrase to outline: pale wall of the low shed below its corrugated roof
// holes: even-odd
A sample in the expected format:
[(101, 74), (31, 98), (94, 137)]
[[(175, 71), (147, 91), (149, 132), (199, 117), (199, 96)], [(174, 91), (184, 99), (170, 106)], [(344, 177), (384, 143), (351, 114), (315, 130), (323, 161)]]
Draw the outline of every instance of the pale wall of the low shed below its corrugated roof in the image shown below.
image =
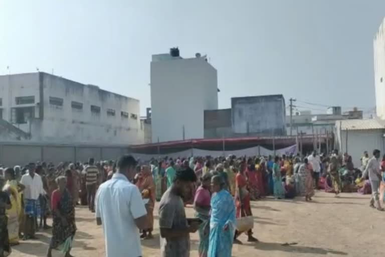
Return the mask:
[[(354, 167), (360, 168), (360, 158), (364, 151), (371, 153), (374, 149), (381, 151), (381, 156), (384, 154), (384, 138), (383, 130), (349, 130), (347, 132), (347, 153), (351, 155)], [(335, 147), (341, 154), (346, 152), (346, 131), (339, 132), (336, 130)]]

